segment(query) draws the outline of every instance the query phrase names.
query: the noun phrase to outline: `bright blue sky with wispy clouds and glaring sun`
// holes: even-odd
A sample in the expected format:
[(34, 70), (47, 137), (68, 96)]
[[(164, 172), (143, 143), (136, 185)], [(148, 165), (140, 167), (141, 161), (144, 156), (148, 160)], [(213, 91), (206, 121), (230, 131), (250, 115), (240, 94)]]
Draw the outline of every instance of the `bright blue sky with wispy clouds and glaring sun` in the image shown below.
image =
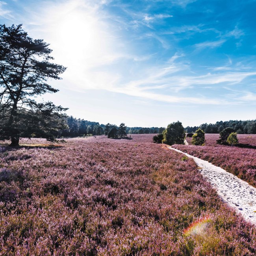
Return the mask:
[(127, 126), (256, 119), (255, 0), (0, 0), (67, 67), (43, 95)]

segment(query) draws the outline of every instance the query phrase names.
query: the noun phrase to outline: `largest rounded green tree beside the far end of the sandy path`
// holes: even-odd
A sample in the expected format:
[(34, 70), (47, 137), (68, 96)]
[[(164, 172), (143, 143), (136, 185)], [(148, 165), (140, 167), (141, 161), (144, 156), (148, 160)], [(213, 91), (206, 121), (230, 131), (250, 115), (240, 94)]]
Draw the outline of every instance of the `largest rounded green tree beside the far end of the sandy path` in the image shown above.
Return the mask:
[(184, 127), (179, 121), (169, 124), (163, 131), (163, 143), (167, 145), (184, 144), (184, 139)]

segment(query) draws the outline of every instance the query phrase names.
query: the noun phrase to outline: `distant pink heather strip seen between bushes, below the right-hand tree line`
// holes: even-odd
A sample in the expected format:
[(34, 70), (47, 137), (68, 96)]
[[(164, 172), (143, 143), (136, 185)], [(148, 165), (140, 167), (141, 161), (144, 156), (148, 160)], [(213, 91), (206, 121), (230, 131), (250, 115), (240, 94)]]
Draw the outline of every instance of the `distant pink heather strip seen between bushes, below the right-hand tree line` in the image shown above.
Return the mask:
[[(251, 146), (256, 146), (256, 134), (237, 134), (239, 143), (249, 144)], [(205, 134), (205, 145), (214, 147), (223, 147), (223, 145), (217, 144), (216, 140), (219, 139), (219, 134)], [(192, 138), (186, 137), (187, 143), (192, 145)]]

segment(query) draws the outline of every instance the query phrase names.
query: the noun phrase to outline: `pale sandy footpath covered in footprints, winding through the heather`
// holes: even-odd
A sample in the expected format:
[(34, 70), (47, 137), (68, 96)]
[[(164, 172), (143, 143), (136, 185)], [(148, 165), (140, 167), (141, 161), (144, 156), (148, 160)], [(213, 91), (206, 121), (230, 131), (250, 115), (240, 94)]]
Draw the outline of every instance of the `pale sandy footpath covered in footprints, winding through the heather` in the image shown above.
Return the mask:
[(232, 173), (228, 173), (221, 167), (217, 167), (208, 161), (191, 156), (178, 149), (169, 147), (187, 157), (193, 158), (200, 173), (217, 190), (218, 195), (232, 208), (241, 213), (245, 219), (256, 224), (256, 188), (250, 186), (247, 182), (237, 178)]

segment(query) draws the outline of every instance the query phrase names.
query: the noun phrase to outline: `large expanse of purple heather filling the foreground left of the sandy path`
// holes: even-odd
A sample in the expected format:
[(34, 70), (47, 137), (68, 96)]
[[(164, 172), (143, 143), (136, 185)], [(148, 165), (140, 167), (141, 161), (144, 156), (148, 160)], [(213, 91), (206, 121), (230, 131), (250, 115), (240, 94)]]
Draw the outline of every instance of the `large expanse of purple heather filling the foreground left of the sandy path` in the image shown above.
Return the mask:
[(0, 255), (255, 255), (254, 226), (193, 160), (132, 137), (2, 150)]

